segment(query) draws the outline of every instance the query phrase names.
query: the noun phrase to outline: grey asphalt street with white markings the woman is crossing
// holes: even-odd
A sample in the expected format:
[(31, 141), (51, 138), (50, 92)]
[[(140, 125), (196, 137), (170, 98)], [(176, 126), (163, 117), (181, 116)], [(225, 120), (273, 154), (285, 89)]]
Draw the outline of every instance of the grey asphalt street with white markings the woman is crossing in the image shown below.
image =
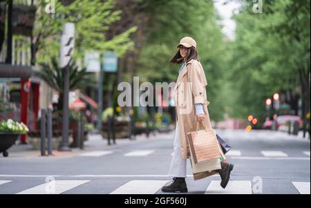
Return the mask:
[[(231, 182), (222, 189), (218, 175), (194, 181), (188, 160), (189, 194), (310, 194), (310, 140), (272, 131), (216, 132), (232, 146), (227, 154), (235, 165)], [(160, 194), (171, 180), (173, 138), (171, 131), (107, 146), (97, 135), (83, 151), (49, 157), (9, 150), (8, 158), (0, 157), (0, 193)]]

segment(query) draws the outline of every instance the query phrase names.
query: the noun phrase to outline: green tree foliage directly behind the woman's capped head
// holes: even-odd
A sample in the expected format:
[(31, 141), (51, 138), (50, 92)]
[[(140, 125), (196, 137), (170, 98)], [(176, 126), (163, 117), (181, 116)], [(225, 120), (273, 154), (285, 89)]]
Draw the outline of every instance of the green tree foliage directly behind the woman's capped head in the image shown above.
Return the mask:
[(207, 96), (213, 120), (222, 120), (225, 105), (220, 99), (223, 87), (224, 35), (217, 21), (213, 1), (142, 1), (145, 3), (146, 41), (138, 52), (140, 80), (176, 82), (180, 66), (170, 64), (176, 45), (185, 36), (196, 39), (200, 62), (207, 76)]

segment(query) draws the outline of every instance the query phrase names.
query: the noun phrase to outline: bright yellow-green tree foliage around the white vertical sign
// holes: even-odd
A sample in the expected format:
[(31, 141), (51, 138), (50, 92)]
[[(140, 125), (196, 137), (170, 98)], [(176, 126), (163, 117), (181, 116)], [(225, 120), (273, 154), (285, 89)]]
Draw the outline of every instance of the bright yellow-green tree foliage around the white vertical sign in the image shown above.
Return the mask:
[(136, 28), (131, 27), (111, 39), (107, 39), (105, 31), (111, 23), (120, 20), (121, 10), (115, 10), (114, 0), (79, 0), (69, 5), (55, 0), (55, 14), (46, 14), (46, 2), (37, 5), (37, 15), (32, 41), (32, 64), (49, 62), (50, 57), (59, 54), (60, 36), (64, 23), (75, 23), (75, 58), (82, 58), (87, 50), (115, 50), (122, 56), (126, 50), (133, 48), (133, 41), (129, 38)]

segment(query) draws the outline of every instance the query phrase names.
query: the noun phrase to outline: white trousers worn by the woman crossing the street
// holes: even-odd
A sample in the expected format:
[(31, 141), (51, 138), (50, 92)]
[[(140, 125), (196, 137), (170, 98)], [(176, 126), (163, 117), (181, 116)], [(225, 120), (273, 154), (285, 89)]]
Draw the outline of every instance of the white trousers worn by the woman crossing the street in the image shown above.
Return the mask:
[(186, 178), (187, 159), (182, 158), (180, 149), (180, 133), (179, 125), (176, 123), (175, 139), (174, 139), (174, 152), (171, 158), (171, 166), (169, 167), (169, 176)]

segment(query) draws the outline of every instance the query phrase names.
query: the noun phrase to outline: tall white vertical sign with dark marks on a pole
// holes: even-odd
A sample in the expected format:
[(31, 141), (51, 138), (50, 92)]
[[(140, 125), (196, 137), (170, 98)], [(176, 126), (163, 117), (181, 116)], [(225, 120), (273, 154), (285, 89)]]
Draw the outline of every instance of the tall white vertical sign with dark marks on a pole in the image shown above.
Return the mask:
[(75, 23), (67, 22), (64, 25), (61, 37), (60, 66), (68, 66), (73, 55), (75, 44)]

